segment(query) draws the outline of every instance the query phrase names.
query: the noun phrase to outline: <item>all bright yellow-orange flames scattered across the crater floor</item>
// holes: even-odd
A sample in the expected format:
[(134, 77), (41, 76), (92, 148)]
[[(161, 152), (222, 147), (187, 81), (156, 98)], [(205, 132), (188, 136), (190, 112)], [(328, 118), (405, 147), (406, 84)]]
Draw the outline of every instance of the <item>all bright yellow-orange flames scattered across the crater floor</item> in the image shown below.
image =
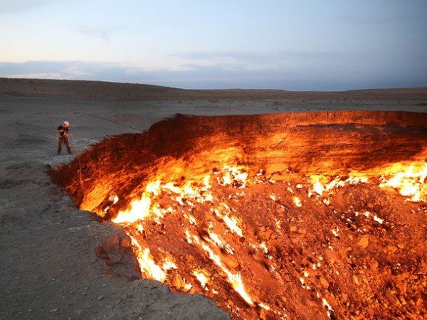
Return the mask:
[[(256, 176), (253, 177), (253, 180), (248, 179), (248, 173), (246, 173), (246, 171), (242, 171), (242, 169), (231, 166), (225, 166), (221, 171), (217, 171), (215, 175), (216, 183), (224, 187), (241, 189), (246, 188), (248, 184), (262, 182), (258, 180)], [(308, 186), (306, 183), (298, 183), (295, 185), (296, 189), (294, 192), (294, 190), (292, 190), (292, 184), (288, 183), (287, 190), (291, 193), (292, 201), (297, 208), (307, 204), (306, 198), (303, 198), (304, 195), (302, 194), (304, 188), (305, 190), (308, 190), (309, 198), (315, 196), (315, 199), (322, 199), (323, 203), (329, 205), (329, 198), (337, 188), (342, 188), (354, 183), (367, 183), (369, 179), (374, 179), (374, 181), (378, 181), (379, 179), (379, 181), (381, 181), (379, 184), (381, 188), (394, 188), (403, 196), (408, 197), (408, 200), (410, 201), (426, 201), (426, 177), (427, 163), (423, 163), (422, 165), (411, 164), (408, 166), (403, 164), (394, 164), (393, 166), (389, 166), (385, 169), (375, 169), (369, 172), (360, 173), (352, 172), (349, 173), (346, 178), (341, 178), (339, 176), (331, 177), (312, 175), (308, 178)], [(273, 308), (273, 305), (269, 306), (268, 304), (258, 301), (260, 299), (257, 298), (256, 295), (254, 295), (254, 297), (251, 296), (246, 289), (241, 273), (236, 270), (228, 269), (228, 265), (221, 260), (221, 255), (217, 255), (216, 252), (221, 251), (226, 252), (228, 255), (234, 255), (235, 249), (224, 240), (225, 238), (221, 236), (221, 233), (216, 232), (214, 224), (211, 222), (208, 223), (209, 228), (204, 235), (199, 236), (197, 234), (192, 234), (191, 228), (196, 228), (196, 226), (201, 225), (201, 223), (195, 218), (196, 214), (191, 210), (175, 210), (176, 208), (194, 208), (194, 204), (191, 204), (191, 201), (193, 203), (216, 203), (216, 207), (210, 208), (210, 212), (214, 213), (214, 215), (218, 217), (218, 220), (223, 223), (223, 227), (226, 232), (229, 231), (232, 234), (243, 238), (242, 228), (244, 221), (238, 218), (238, 214), (233, 208), (230, 208), (226, 203), (214, 198), (211, 178), (213, 178), (211, 174), (206, 174), (206, 176), (202, 178), (202, 183), (188, 181), (185, 186), (176, 186), (173, 182), (164, 183), (163, 181), (149, 181), (141, 198), (132, 201), (130, 208), (120, 211), (113, 222), (133, 225), (135, 230), (139, 230), (139, 232), (141, 232), (143, 230), (142, 222), (144, 220), (152, 219), (158, 222), (157, 219), (164, 218), (167, 213), (178, 214), (181, 212), (188, 222), (187, 226), (190, 228), (185, 228), (186, 241), (191, 245), (199, 247), (206, 253), (209, 260), (218, 267), (218, 270), (221, 270), (223, 274), (226, 275), (227, 282), (231, 285), (233, 290), (240, 295), (247, 304), (251, 306), (256, 304), (265, 310), (270, 310), (270, 308)], [(268, 181), (268, 183), (273, 182)], [(179, 206), (175, 207), (175, 209), (172, 207), (167, 209), (161, 208), (156, 201), (157, 197), (159, 197), (163, 192), (167, 193), (172, 201), (179, 203)], [(241, 196), (244, 196), (244, 194), (244, 191), (241, 191)], [(273, 201), (279, 200), (274, 193), (271, 194), (269, 198)], [(362, 214), (367, 218), (372, 218), (377, 223), (384, 223), (384, 220), (374, 213), (365, 211)], [(140, 220), (140, 223), (137, 222), (138, 220)], [(276, 222), (276, 224), (278, 224), (280, 229), (280, 221)], [(339, 237), (339, 228), (332, 228), (331, 232), (335, 237)], [(128, 235), (130, 235), (130, 233), (128, 233)], [(160, 282), (169, 281), (169, 270), (177, 268), (174, 262), (167, 259), (156, 259), (153, 257), (148, 247), (141, 245), (135, 238), (132, 238), (132, 235), (130, 235), (130, 237), (132, 239), (132, 245), (134, 246), (142, 274), (147, 276), (149, 279), (157, 279)], [(262, 250), (264, 255), (268, 257), (268, 247), (265, 242), (261, 242), (257, 248)], [(320, 264), (313, 265), (313, 269), (315, 270), (319, 266)], [(216, 290), (210, 288), (210, 282), (214, 281), (214, 277), (211, 279), (207, 270), (198, 267), (192, 272), (192, 275), (195, 277), (197, 282), (199, 282), (200, 287), (203, 290), (216, 294)], [(304, 276), (308, 277), (308, 273), (304, 274)], [(300, 278), (300, 281), (303, 287), (310, 288), (305, 285), (304, 278)], [(182, 287), (185, 287), (186, 289), (191, 288), (192, 284), (196, 285), (196, 282), (192, 282), (192, 284), (186, 283), (185, 279), (182, 280), (182, 283)], [(325, 298), (322, 299), (322, 303), (327, 307), (328, 312), (333, 311), (332, 306), (330, 306)], [(273, 312), (277, 314), (277, 311)]]

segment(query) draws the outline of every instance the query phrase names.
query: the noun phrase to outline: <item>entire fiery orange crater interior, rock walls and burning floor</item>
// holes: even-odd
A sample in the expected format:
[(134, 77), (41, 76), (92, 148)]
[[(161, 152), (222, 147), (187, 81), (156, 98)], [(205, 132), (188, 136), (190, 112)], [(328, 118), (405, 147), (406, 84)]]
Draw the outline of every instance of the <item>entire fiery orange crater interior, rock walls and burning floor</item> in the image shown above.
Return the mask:
[(426, 114), (409, 112), (177, 115), (91, 146), (53, 181), (122, 218), (130, 238), (97, 253), (129, 279), (137, 261), (235, 318), (419, 317), (425, 176), (416, 201), (388, 183), (397, 164), (423, 169), (426, 138)]

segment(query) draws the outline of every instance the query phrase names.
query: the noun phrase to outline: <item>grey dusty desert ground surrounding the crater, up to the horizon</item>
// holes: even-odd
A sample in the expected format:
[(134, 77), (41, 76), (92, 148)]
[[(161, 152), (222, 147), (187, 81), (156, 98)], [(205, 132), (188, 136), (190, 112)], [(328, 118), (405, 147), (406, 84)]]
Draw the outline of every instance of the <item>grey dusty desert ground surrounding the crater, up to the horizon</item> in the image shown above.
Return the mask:
[(182, 114), (320, 110), (427, 112), (427, 90), (360, 92), (186, 91), (99, 82), (0, 79), (0, 319), (228, 319), (209, 299), (159, 282), (115, 277), (95, 256), (121, 231), (95, 223), (51, 182), (56, 127), (76, 149), (147, 130)]

